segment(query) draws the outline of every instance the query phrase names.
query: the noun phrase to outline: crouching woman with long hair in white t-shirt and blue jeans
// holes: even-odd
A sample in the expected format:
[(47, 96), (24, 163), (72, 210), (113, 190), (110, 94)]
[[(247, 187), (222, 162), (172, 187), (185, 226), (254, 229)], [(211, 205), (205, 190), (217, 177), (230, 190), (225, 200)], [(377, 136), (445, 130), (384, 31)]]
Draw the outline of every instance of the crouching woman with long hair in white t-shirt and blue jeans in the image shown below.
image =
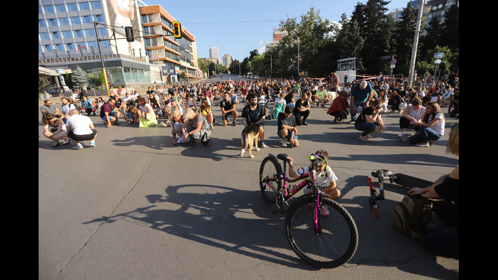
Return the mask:
[(441, 113), (438, 103), (429, 102), (425, 107), (422, 122), (410, 122), (411, 125), (418, 126), (419, 131), (410, 138), (410, 143), (417, 147), (433, 145), (434, 141), (443, 137), (445, 132), (445, 116)]

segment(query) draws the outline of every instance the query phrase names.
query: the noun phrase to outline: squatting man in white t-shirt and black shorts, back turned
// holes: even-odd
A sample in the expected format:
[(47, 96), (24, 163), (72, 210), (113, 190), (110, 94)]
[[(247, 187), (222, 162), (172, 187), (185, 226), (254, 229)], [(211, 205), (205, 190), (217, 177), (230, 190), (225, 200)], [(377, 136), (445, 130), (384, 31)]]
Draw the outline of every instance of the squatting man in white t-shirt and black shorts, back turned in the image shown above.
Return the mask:
[(80, 115), (78, 110), (69, 111), (66, 129), (68, 130), (69, 140), (76, 144), (77, 150), (83, 148), (80, 141), (90, 140), (90, 147), (95, 147), (97, 131), (95, 130), (94, 123), (91, 122), (89, 117)]

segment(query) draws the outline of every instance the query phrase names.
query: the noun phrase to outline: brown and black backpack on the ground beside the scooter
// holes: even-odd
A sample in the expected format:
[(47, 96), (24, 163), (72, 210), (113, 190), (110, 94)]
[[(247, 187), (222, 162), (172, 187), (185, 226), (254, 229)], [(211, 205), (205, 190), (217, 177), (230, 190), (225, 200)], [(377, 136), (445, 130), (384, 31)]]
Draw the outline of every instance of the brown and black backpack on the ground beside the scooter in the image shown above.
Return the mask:
[(394, 223), (404, 235), (421, 238), (427, 232), (427, 223), (432, 220), (432, 202), (437, 201), (420, 195), (404, 195), (396, 204)]

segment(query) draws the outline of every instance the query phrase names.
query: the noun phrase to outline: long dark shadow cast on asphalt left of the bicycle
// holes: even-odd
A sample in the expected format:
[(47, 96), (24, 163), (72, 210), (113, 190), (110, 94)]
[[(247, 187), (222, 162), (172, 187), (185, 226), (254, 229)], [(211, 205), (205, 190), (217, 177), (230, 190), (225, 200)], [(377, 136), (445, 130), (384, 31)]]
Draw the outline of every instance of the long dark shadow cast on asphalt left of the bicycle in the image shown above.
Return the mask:
[[(282, 216), (271, 213), (274, 209), (262, 200), (260, 192), (195, 184), (168, 186), (166, 194), (148, 195), (148, 206), (83, 224), (139, 221), (138, 224), (147, 224), (152, 229), (229, 252), (304, 270), (317, 270), (304, 265), (291, 251), (283, 234), (284, 220), (279, 219)], [(180, 205), (180, 208), (161, 209), (163, 202)], [(237, 217), (253, 212), (265, 220)], [(274, 247), (278, 250), (273, 250)], [(280, 253), (281, 248), (288, 248), (288, 254)]]

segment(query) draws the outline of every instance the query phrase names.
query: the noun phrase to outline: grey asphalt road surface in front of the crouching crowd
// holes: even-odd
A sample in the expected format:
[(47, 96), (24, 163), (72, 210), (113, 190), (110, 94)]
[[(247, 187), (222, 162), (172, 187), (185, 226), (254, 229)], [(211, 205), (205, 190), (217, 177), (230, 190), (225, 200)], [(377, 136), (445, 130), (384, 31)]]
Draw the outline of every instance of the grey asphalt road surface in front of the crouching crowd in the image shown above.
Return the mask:
[[(213, 109), (220, 120), (220, 108)], [(210, 146), (186, 147), (172, 145), (169, 128), (122, 121), (108, 129), (90, 116), (97, 146), (86, 141), (81, 150), (72, 143), (52, 148), (39, 122), (38, 278), (459, 278), (458, 260), (427, 253), (395, 227), (392, 211), (407, 190), (386, 183), (377, 220), (367, 181), (377, 169), (427, 180), (449, 173), (458, 158), (445, 153), (447, 134), (458, 120), (448, 118), (446, 135), (421, 148), (398, 141), (399, 115), (383, 114), (387, 132), (363, 142), (353, 125), (334, 125), (325, 112), (312, 108), (310, 125), (298, 127), (297, 148), (282, 147), (276, 120), (266, 121), (268, 147), (253, 151), (254, 159), (239, 155), (241, 121), (238, 127), (218, 121)], [(258, 186), (269, 152), (288, 153), (297, 168), (318, 149), (330, 154), (343, 192), (338, 202), (359, 232), (353, 259), (335, 269), (297, 258), (285, 238), (284, 216), (271, 213), (276, 206), (264, 202)]]

